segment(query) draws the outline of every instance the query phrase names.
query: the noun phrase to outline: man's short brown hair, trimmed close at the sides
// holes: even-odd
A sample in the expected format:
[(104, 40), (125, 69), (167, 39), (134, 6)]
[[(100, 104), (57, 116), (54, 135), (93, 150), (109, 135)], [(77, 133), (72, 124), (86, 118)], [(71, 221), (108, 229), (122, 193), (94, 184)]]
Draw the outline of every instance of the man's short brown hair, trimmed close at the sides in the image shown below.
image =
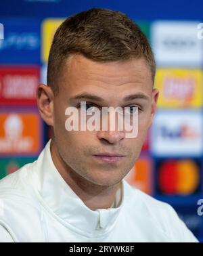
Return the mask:
[(97, 62), (145, 58), (154, 83), (156, 62), (148, 38), (121, 12), (93, 8), (62, 22), (53, 37), (47, 67), (47, 85), (55, 94), (64, 61), (72, 54)]

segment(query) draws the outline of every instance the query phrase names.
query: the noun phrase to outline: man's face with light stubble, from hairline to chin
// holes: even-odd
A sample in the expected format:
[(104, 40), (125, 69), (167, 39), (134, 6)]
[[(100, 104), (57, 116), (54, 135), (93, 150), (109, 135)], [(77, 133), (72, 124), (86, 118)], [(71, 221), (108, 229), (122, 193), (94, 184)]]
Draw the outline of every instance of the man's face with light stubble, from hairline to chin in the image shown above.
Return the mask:
[[(158, 91), (152, 89), (150, 68), (143, 59), (101, 63), (74, 55), (64, 66), (59, 87), (59, 93), (53, 99), (53, 131), (61, 158), (70, 170), (93, 184), (118, 184), (139, 157), (156, 110)], [(81, 93), (97, 95), (102, 101), (90, 98), (74, 99)], [(138, 95), (134, 100), (123, 100), (126, 96), (134, 94)], [(127, 138), (125, 131), (118, 129), (67, 131), (65, 110), (69, 106), (74, 106), (80, 113), (81, 101), (87, 103), (87, 109), (93, 106), (138, 106), (137, 137)], [(122, 157), (116, 162), (109, 163), (104, 158), (95, 156), (102, 153), (121, 154)]]

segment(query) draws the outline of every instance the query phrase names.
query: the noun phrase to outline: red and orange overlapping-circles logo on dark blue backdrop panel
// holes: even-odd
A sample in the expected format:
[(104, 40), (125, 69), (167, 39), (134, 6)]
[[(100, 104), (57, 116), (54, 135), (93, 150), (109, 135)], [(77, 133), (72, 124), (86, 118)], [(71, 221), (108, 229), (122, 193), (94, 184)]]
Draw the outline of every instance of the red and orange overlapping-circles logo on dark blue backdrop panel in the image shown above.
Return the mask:
[(164, 161), (158, 171), (158, 188), (162, 194), (188, 195), (200, 184), (198, 164), (191, 160)]

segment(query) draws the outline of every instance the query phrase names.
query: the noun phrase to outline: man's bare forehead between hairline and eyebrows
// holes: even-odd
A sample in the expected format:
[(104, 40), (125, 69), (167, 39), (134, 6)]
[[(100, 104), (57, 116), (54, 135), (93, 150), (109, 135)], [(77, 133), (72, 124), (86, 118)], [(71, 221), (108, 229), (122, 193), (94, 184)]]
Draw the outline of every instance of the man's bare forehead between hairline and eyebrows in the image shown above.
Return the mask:
[(129, 89), (152, 90), (152, 75), (144, 59), (125, 62), (96, 62), (77, 54), (68, 58), (61, 86), (72, 94), (78, 91), (121, 93)]

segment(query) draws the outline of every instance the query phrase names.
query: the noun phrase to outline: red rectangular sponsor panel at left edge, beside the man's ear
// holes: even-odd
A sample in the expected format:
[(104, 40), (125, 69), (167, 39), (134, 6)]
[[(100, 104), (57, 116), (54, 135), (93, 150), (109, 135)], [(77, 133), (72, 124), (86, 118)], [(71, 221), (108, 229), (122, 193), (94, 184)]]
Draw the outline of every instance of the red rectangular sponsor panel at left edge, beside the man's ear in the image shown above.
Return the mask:
[(38, 66), (0, 67), (0, 105), (36, 104)]

